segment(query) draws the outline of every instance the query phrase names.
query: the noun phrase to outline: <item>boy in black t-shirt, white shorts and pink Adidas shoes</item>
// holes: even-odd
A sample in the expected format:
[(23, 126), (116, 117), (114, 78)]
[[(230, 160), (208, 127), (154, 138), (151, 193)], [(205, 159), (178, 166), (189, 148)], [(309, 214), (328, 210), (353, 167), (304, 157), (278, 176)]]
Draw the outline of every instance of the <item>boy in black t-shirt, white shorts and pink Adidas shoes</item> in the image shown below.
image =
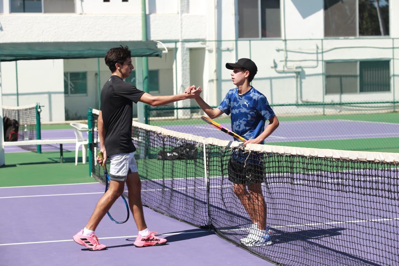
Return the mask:
[[(97, 121), (100, 139), (100, 150), (103, 152), (104, 162), (97, 157), (100, 164), (105, 163), (107, 157), (111, 160), (109, 189), (98, 201), (86, 227), (79, 231), (73, 240), (86, 246), (89, 250), (103, 250), (95, 229), (105, 213), (111, 208), (115, 200), (123, 193), (124, 183), (128, 187), (129, 207), (138, 229), (138, 236), (134, 246), (158, 246), (166, 244), (166, 239), (155, 236), (156, 232), (148, 230), (144, 221), (141, 202), (141, 181), (138, 176), (132, 142), (132, 102), (138, 101), (152, 106), (168, 104), (184, 99), (194, 99), (201, 93), (201, 89), (190, 87), (191, 93), (169, 96), (152, 96), (138, 90), (132, 84), (123, 81), (129, 77), (132, 69), (131, 53), (127, 46), (111, 48), (105, 55), (105, 63), (111, 70), (111, 77), (101, 90), (101, 110)], [(187, 90), (187, 89), (186, 89)]]

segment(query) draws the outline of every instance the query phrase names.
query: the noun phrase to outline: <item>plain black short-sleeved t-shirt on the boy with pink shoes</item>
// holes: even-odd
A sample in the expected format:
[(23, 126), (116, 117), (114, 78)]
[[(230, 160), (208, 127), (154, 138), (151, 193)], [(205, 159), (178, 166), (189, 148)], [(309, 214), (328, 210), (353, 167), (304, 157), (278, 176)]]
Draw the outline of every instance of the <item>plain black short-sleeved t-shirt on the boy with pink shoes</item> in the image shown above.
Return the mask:
[(107, 156), (136, 150), (132, 142), (132, 102), (137, 103), (144, 91), (111, 76), (101, 90), (101, 113), (105, 127)]

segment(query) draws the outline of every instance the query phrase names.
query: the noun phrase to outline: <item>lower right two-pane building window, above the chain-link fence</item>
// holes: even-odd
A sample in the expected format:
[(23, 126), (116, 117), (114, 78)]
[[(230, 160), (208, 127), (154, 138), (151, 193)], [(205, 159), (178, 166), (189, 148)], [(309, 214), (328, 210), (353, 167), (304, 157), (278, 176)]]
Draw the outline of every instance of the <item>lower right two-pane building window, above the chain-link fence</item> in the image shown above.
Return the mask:
[(326, 62), (326, 94), (390, 91), (389, 61)]

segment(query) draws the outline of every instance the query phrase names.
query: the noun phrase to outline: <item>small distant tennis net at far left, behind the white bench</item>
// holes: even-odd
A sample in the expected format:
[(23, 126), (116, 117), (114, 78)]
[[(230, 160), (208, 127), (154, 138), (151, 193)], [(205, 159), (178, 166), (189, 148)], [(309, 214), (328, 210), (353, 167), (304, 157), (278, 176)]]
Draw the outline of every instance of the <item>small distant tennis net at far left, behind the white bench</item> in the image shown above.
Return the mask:
[[(7, 116), (10, 119), (15, 119), (19, 123), (18, 140), (36, 140), (37, 139), (37, 128), (36, 124), (40, 123), (37, 121), (38, 104), (30, 104), (26, 106), (2, 106), (3, 116)], [(27, 133), (25, 133), (25, 128)], [(26, 134), (26, 135), (24, 135)], [(36, 151), (36, 145), (25, 145), (21, 148)]]

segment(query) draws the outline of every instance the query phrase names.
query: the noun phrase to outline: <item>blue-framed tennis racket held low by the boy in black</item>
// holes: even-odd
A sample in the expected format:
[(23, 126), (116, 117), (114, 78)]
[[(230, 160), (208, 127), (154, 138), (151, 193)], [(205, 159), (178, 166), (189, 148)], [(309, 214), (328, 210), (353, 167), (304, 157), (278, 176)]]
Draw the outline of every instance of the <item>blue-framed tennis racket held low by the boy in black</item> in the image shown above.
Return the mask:
[[(98, 156), (104, 161), (103, 152), (99, 151)], [(109, 178), (107, 166), (104, 164), (104, 162), (101, 164), (101, 166), (103, 167), (105, 175), (105, 192), (107, 192), (111, 179)], [(120, 195), (120, 197), (117, 198), (117, 200), (108, 210), (107, 214), (114, 223), (126, 223), (126, 221), (129, 219), (129, 207), (123, 195)]]

